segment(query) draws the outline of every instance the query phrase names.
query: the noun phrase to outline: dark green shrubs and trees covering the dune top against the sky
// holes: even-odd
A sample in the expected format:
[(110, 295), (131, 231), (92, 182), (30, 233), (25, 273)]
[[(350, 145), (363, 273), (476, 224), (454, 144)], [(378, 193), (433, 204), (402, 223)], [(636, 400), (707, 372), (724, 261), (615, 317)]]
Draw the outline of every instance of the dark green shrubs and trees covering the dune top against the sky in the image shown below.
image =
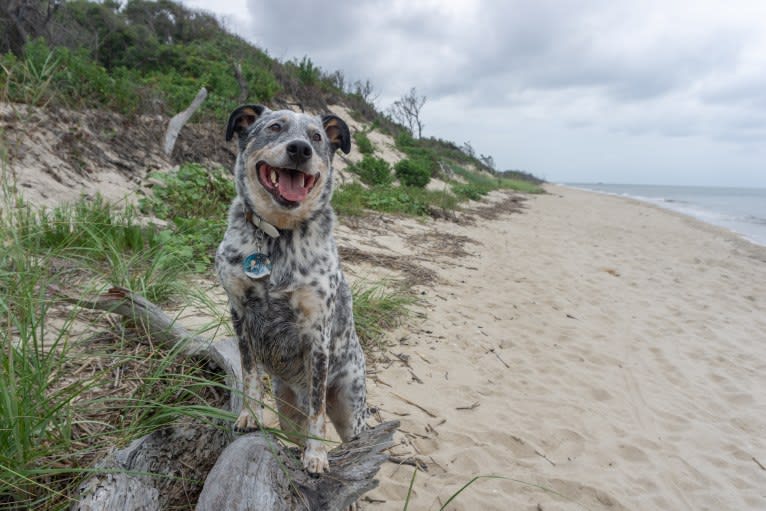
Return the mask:
[[(439, 175), (445, 163), (495, 173), (492, 157), (476, 155), (468, 142), (459, 147), (422, 137), (426, 97), (414, 88), (382, 113), (369, 80), (351, 82), (342, 71), (321, 69), (309, 56), (280, 62), (227, 32), (213, 14), (172, 0), (23, 4), (15, 14), (0, 10), (2, 100), (171, 115), (205, 87), (208, 97), (196, 118), (218, 123), (246, 101), (275, 106), (297, 101), (313, 110), (344, 103), (354, 117), (395, 136), (397, 147), (431, 176)], [(374, 154), (366, 132), (354, 139), (362, 154)], [(535, 181), (523, 172), (514, 177)]]

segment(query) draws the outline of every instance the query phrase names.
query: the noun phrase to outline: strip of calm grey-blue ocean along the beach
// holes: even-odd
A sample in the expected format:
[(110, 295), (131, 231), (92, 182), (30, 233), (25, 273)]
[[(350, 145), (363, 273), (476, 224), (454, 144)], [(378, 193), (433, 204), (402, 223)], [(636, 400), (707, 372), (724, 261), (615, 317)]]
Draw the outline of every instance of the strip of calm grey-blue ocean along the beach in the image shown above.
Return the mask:
[(766, 246), (766, 188), (604, 183), (567, 183), (566, 186), (651, 202)]

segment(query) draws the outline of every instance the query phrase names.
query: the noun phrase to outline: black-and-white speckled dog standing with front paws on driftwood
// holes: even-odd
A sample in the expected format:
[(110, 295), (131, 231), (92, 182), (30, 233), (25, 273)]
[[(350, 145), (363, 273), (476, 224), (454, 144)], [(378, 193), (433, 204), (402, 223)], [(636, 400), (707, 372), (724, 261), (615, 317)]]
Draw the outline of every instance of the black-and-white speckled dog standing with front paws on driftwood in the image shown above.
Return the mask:
[(261, 105), (231, 113), (226, 140), (235, 135), (237, 196), (215, 257), (242, 356), (244, 405), (234, 429), (263, 423), (265, 370), (280, 426), (318, 475), (329, 469), (326, 416), (343, 441), (367, 427), (365, 357), (330, 205), (333, 155), (348, 154), (351, 137), (335, 115)]

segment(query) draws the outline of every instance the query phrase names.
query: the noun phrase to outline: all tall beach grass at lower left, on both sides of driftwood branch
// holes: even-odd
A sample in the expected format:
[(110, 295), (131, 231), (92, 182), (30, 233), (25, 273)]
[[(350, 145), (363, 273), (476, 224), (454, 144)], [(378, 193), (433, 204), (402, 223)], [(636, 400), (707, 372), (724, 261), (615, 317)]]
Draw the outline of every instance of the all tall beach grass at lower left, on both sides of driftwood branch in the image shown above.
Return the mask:
[[(197, 362), (145, 343), (103, 315), (63, 306), (119, 284), (163, 301), (189, 283), (155, 229), (101, 200), (34, 211), (0, 158), (0, 509), (64, 509), (87, 467), (181, 417), (215, 421)], [(216, 328), (218, 325), (209, 325)], [(76, 375), (76, 376), (75, 376)]]

